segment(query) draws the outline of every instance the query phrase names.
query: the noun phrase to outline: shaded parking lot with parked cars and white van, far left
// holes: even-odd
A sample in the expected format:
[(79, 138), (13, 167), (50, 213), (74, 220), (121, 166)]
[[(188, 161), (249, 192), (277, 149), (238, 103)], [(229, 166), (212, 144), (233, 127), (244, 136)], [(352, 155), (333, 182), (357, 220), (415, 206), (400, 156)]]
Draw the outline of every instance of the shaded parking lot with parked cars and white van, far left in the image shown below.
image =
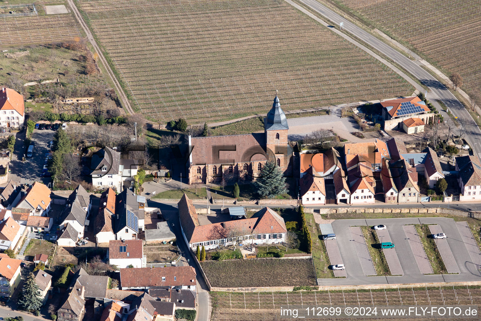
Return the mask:
[[(11, 175), (17, 176), (16, 181), (22, 184), (32, 184), (35, 181), (40, 181), (46, 185), (51, 182), (50, 177), (42, 178), (40, 174), (42, 173), (45, 154), (50, 151), (47, 145), (49, 141), (53, 140), (54, 135), (55, 131), (53, 130), (34, 129), (31, 137), (32, 142), (35, 144), (33, 156), (25, 157), (25, 161), (22, 162), (20, 161), (22, 154), (19, 154), (19, 161), (15, 162), (15, 166), (12, 167)], [(23, 154), (26, 154), (27, 148), (28, 146), (25, 146)]]

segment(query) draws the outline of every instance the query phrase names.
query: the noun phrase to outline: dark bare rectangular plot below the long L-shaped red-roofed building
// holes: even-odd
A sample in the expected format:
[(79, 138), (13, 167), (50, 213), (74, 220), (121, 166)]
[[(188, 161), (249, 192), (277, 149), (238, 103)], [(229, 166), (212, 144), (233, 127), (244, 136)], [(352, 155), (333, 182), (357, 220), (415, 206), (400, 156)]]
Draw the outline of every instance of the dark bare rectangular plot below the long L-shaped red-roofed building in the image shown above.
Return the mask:
[(312, 260), (308, 258), (256, 258), (204, 261), (202, 268), (213, 287), (315, 285)]

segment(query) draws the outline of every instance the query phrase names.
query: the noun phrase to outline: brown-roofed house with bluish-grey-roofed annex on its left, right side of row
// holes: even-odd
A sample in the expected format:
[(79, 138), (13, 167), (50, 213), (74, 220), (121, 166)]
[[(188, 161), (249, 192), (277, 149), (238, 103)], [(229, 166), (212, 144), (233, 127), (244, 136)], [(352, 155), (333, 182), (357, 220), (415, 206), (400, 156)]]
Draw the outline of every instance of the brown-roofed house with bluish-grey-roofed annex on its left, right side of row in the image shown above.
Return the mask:
[(411, 167), (416, 168), (417, 172), (424, 174), (429, 188), (435, 188), (438, 180), (444, 178), (438, 155), (430, 147), (422, 153), (407, 153), (401, 156)]

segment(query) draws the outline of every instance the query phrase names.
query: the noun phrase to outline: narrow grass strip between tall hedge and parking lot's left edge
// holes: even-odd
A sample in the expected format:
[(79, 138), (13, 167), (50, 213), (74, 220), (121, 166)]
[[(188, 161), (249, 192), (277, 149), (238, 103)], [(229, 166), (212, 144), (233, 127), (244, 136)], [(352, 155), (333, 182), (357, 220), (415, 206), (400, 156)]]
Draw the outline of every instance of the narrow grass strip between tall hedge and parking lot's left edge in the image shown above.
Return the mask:
[[(312, 259), (314, 261), (314, 269), (316, 270), (316, 277), (318, 279), (333, 279), (334, 271), (329, 269), (330, 261), (328, 252), (324, 241), (321, 239), (321, 231), (317, 228), (317, 224), (314, 221), (314, 215), (304, 212), (305, 220), (312, 239)], [(313, 226), (315, 226), (314, 231)]]

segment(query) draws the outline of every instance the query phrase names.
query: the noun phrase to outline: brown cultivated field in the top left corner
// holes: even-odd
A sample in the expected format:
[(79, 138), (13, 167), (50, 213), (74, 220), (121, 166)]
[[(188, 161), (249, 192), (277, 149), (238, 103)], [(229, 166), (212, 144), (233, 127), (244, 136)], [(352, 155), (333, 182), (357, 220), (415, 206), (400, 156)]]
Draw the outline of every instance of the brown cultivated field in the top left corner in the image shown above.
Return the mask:
[[(32, 3), (33, 1), (9, 1), (9, 4)], [(51, 1), (56, 2), (56, 1)], [(0, 2), (0, 5), (3, 5)], [(45, 15), (38, 5), (39, 15), (0, 17), (0, 48), (55, 43), (73, 40), (80, 36), (76, 21), (71, 14)]]

